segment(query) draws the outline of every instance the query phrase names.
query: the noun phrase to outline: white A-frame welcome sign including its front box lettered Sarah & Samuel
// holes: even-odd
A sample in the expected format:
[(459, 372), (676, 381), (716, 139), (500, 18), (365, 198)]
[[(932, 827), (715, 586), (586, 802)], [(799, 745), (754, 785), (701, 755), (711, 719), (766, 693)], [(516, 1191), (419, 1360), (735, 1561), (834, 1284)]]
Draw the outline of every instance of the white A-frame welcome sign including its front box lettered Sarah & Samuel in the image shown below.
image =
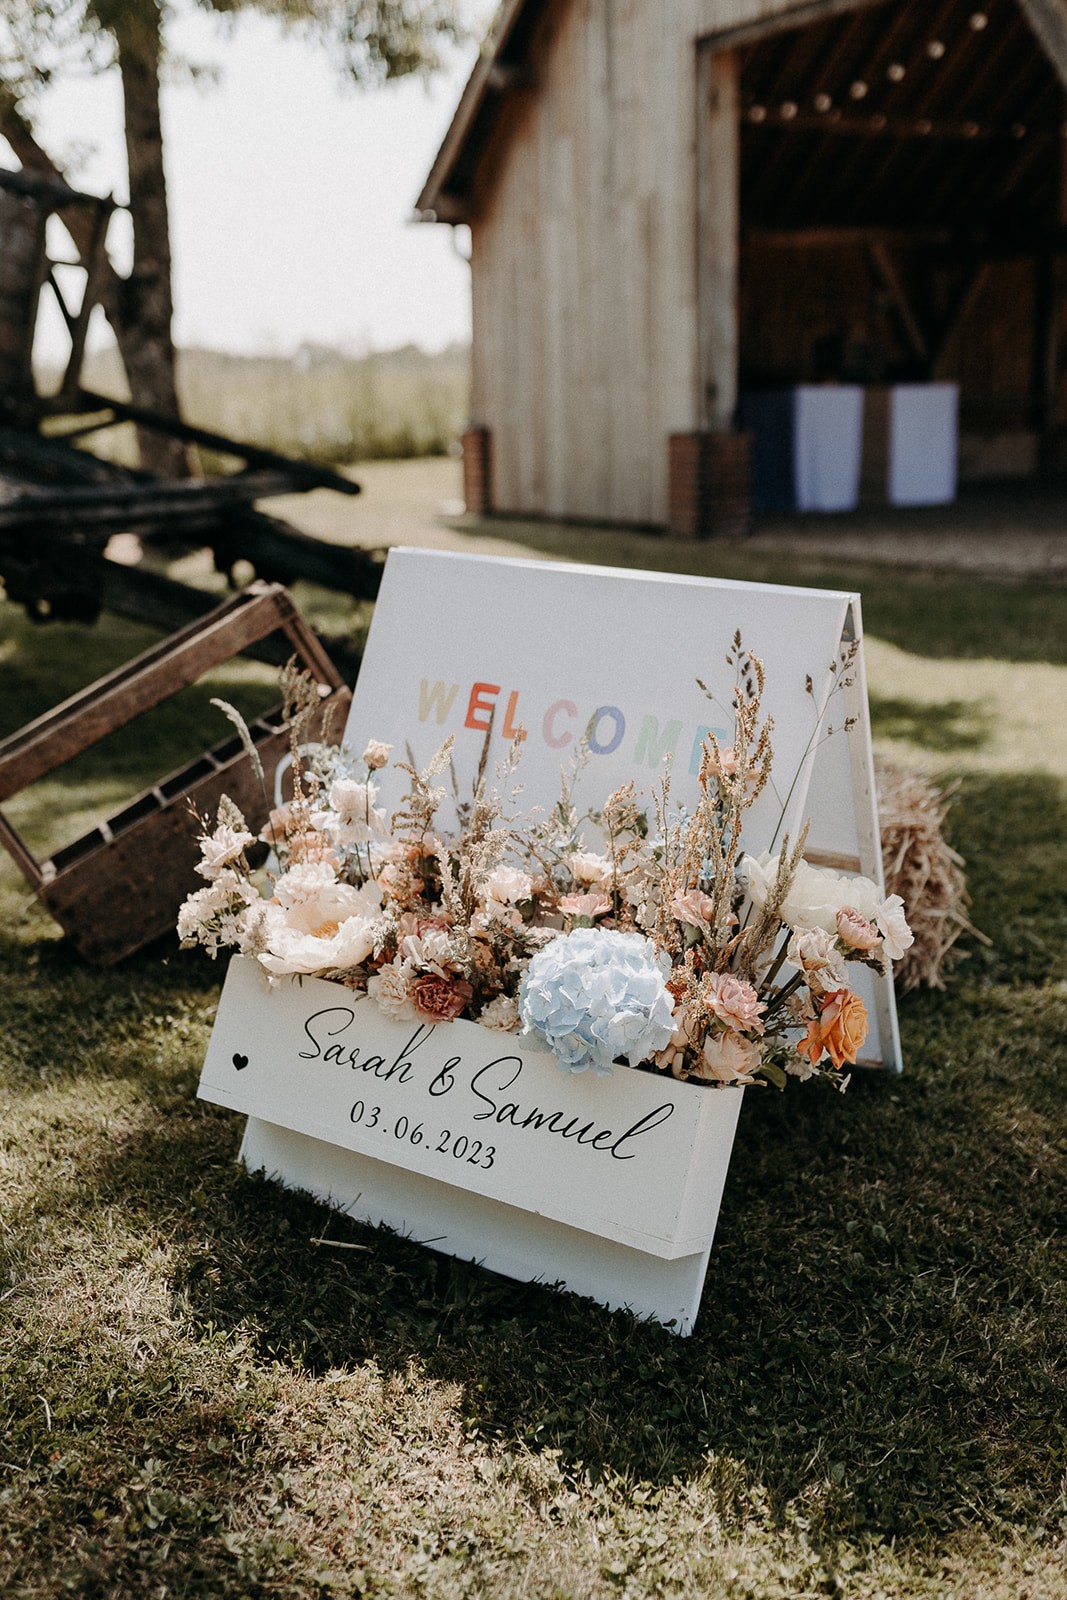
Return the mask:
[[(462, 798), (486, 738), (501, 757), (518, 739), (523, 808), (558, 798), (584, 744), (579, 811), (629, 779), (651, 805), (669, 758), (685, 803), (709, 730), (733, 738), (737, 632), (774, 718), (747, 848), (776, 850), (809, 819), (809, 859), (880, 882), (854, 594), (394, 550), (346, 744), (381, 739), (422, 768), (453, 736)], [(395, 808), (405, 776), (378, 776)], [(899, 1070), (891, 987), (864, 978), (867, 1064)], [(246, 1114), (251, 1170), (448, 1254), (693, 1326), (741, 1090), (624, 1066), (565, 1074), (523, 1035), (387, 1021), (339, 984), (270, 987), (237, 958), (200, 1094)]]

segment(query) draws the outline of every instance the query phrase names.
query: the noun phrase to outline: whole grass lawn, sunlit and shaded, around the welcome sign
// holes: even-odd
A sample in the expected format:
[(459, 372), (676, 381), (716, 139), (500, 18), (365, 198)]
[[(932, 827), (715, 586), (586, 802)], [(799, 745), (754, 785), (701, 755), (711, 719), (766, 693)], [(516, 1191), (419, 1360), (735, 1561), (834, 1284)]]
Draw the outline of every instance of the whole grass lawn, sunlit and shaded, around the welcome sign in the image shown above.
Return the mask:
[[(245, 1174), (195, 1099), (221, 970), (93, 971), (0, 861), (5, 1597), (1067, 1597), (1067, 587), (753, 560), (862, 589), (877, 744), (960, 779), (993, 946), (902, 998), (902, 1078), (747, 1096), (691, 1339)], [(3, 731), (146, 638), (0, 606)], [(8, 814), (74, 837), (226, 734), (211, 693), (272, 683)]]

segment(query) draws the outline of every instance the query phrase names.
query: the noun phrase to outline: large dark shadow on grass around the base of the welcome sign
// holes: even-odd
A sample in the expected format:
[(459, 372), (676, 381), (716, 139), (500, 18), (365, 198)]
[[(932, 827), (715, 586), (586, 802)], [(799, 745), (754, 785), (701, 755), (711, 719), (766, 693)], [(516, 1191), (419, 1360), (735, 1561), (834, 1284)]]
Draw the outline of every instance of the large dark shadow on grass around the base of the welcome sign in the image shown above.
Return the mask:
[(37, 947), (19, 1027), (66, 1045), (51, 1082), (134, 1080), (152, 1115), (91, 1133), (21, 1221), (106, 1237), (122, 1216), (163, 1242), (194, 1347), (224, 1330), (301, 1371), (416, 1363), (461, 1387), (472, 1427), (576, 1472), (667, 1485), (728, 1456), (830, 1539), (1033, 1526), (1067, 1438), (1062, 790), (969, 779), (957, 842), (984, 862), (974, 914), (997, 947), (904, 1002), (904, 1078), (749, 1094), (688, 1341), (242, 1173), (238, 1120), (194, 1099), (221, 976), (194, 957), (101, 981)]

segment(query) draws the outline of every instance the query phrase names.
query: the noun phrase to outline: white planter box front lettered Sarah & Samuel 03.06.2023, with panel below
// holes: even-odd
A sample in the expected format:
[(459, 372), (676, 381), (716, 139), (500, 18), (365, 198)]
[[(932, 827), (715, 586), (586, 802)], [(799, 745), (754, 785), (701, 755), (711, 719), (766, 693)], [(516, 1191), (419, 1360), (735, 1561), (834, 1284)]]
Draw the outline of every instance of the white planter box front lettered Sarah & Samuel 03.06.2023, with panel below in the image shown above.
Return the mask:
[(512, 1277), (691, 1330), (741, 1090), (561, 1072), (515, 1034), (392, 1022), (232, 960), (200, 1096), (242, 1158), (349, 1214)]

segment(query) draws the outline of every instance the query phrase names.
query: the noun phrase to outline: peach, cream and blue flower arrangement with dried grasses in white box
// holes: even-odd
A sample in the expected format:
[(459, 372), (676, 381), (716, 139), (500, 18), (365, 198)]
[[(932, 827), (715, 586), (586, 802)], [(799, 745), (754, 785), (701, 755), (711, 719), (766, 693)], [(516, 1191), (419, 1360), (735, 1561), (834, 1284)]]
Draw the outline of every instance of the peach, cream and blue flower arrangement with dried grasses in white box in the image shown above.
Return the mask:
[[(333, 979), (397, 1021), (522, 1030), (568, 1072), (625, 1061), (709, 1085), (845, 1088), (867, 1035), (848, 968), (888, 971), (912, 934), (899, 896), (806, 862), (806, 829), (773, 856), (744, 850), (773, 728), (739, 635), (728, 659), (733, 742), (705, 738), (689, 810), (672, 803), (667, 771), (651, 808), (625, 784), (579, 814), (565, 774), (555, 806), (520, 821), (515, 744), (494, 787), (483, 754), (448, 835), (437, 813), (451, 741), (424, 771), (395, 763), (408, 794), (389, 818), (376, 774), (392, 747), (371, 741), (358, 763), (302, 752), (315, 694), (288, 674), (293, 800), (258, 838), (226, 798), (214, 824), (202, 819), (206, 885), (179, 912), (182, 942), (235, 949), (270, 979)], [(256, 866), (264, 848), (272, 862)]]

